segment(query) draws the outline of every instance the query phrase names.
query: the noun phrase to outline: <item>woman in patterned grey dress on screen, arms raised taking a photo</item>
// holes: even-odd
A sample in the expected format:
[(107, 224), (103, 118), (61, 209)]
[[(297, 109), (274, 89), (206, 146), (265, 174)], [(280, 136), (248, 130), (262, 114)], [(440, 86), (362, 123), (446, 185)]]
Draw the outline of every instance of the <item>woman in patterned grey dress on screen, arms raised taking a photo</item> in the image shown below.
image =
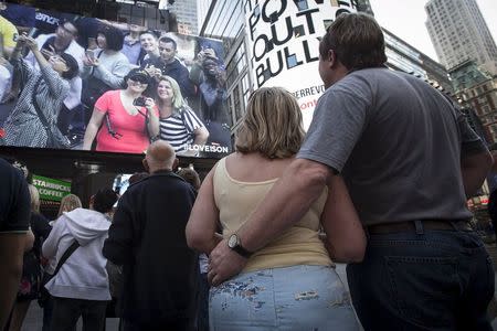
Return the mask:
[[(23, 46), (34, 54), (40, 71), (31, 68), (20, 58)], [(18, 104), (7, 118), (0, 145), (63, 148), (56, 122), (59, 110), (70, 92), (70, 83), (78, 74), (77, 61), (70, 54), (46, 60), (34, 39), (20, 35), (11, 56), (14, 73), (20, 74), (22, 92)], [(68, 141), (67, 141), (68, 142)]]

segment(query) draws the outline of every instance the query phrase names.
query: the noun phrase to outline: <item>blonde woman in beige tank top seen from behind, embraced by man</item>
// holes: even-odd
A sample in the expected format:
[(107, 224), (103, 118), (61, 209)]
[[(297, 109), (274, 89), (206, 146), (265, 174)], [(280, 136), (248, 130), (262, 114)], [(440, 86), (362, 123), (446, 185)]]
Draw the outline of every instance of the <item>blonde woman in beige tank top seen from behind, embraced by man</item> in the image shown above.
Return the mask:
[(215, 285), (209, 298), (211, 330), (359, 330), (332, 261), (362, 260), (366, 248), (340, 177), (334, 177), (332, 191), (324, 189), (309, 212), (264, 248), (248, 252), (236, 235), (292, 163), (304, 136), (295, 97), (283, 88), (260, 88), (248, 99), (236, 152), (203, 180), (187, 224), (188, 245), (210, 254), (222, 239), (220, 226), (226, 245), (247, 259), (241, 274), (220, 285), (209, 269)]

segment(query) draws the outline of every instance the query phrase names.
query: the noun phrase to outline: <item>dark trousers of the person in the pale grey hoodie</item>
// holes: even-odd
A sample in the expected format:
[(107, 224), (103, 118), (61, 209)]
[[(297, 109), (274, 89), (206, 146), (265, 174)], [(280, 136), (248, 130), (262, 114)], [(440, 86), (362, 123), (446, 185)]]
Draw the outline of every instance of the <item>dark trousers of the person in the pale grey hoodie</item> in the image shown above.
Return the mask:
[(73, 331), (80, 317), (83, 331), (99, 331), (105, 327), (107, 301), (53, 297), (52, 331)]

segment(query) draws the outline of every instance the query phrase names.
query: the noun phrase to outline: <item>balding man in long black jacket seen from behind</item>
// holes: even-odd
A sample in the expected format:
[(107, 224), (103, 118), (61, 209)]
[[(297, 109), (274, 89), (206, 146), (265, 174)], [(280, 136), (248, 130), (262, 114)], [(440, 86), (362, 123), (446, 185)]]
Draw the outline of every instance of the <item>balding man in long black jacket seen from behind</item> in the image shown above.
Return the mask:
[(194, 330), (197, 254), (184, 228), (195, 194), (172, 172), (172, 147), (158, 140), (144, 160), (150, 175), (120, 197), (104, 256), (123, 266), (124, 330)]

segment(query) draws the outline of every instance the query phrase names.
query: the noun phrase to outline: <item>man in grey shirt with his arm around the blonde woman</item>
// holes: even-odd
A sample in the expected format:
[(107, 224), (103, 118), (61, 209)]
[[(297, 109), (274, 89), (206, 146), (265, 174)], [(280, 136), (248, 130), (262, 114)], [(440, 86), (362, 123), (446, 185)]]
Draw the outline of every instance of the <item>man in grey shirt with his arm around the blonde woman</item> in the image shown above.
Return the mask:
[(242, 270), (246, 258), (234, 248), (264, 247), (340, 173), (368, 234), (363, 260), (347, 266), (364, 330), (491, 330), (494, 268), (466, 204), (491, 154), (444, 95), (387, 68), (384, 49), (364, 13), (330, 24), (319, 43), (326, 92), (306, 139), (236, 245), (211, 252), (208, 277), (218, 285)]

